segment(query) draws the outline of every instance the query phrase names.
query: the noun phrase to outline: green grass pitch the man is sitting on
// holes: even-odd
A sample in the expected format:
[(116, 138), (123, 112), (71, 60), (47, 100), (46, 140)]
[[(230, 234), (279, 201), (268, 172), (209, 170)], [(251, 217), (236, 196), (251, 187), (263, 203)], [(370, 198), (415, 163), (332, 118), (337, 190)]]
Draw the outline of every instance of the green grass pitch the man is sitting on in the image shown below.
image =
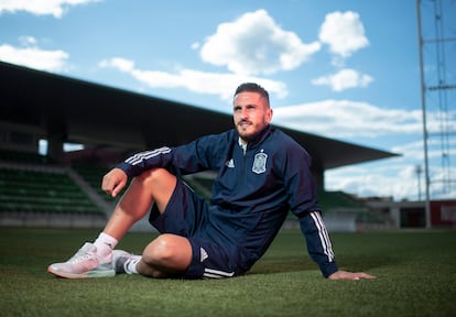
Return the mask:
[[(282, 231), (241, 277), (152, 280), (138, 275), (62, 280), (66, 260), (98, 230), (0, 228), (1, 316), (455, 316), (456, 231), (333, 233), (343, 270), (371, 281), (323, 278), (300, 231)], [(140, 252), (151, 233), (119, 248)]]

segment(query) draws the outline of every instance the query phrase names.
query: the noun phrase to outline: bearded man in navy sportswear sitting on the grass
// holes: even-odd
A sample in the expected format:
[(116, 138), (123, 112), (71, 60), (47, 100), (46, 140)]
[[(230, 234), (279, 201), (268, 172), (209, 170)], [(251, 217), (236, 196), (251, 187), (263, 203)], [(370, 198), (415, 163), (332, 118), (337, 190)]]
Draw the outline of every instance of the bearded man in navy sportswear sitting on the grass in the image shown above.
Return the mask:
[[(105, 175), (102, 189), (116, 197), (134, 177), (94, 243), (47, 271), (67, 278), (113, 276), (231, 277), (259, 260), (291, 210), (307, 251), (325, 277), (372, 278), (339, 271), (317, 206), (311, 157), (290, 136), (270, 125), (269, 94), (252, 83), (234, 96), (235, 129), (176, 147), (138, 153)], [(216, 171), (210, 206), (181, 175)], [(160, 236), (142, 255), (113, 250), (150, 212)]]

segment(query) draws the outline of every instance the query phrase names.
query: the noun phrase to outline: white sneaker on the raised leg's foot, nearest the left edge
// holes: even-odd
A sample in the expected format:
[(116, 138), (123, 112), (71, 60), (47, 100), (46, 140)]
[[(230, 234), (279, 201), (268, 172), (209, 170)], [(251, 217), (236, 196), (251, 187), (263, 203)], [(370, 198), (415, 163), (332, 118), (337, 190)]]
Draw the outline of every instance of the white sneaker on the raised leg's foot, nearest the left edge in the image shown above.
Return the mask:
[(47, 272), (65, 278), (110, 277), (116, 275), (111, 259), (112, 254), (101, 259), (97, 248), (86, 242), (68, 261), (51, 264)]

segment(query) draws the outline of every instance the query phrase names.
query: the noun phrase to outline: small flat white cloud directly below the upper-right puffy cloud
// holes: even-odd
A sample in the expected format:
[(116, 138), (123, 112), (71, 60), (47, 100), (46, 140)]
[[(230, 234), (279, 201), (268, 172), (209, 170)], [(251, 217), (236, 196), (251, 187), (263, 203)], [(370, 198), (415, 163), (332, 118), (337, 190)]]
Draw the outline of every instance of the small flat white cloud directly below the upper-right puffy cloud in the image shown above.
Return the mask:
[(312, 80), (312, 84), (329, 86), (334, 91), (343, 91), (349, 88), (367, 87), (371, 81), (373, 81), (371, 76), (346, 68), (334, 75), (316, 78)]

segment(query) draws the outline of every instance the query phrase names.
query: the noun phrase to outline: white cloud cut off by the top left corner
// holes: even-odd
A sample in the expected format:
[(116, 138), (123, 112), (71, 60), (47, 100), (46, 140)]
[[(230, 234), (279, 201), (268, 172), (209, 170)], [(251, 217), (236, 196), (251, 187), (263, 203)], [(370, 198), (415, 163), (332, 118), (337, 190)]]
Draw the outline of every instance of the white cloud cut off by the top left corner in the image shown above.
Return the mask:
[(102, 0), (0, 0), (0, 14), (25, 11), (36, 15), (62, 18), (69, 7)]

